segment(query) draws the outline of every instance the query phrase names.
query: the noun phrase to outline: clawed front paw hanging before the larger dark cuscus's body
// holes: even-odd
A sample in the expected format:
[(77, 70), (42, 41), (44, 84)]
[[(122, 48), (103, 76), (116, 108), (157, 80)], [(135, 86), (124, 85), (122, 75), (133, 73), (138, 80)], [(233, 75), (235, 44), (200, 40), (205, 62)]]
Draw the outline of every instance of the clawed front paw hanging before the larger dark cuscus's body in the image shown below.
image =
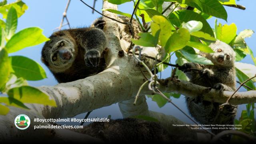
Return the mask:
[(100, 63), (100, 52), (98, 50), (90, 50), (84, 55), (84, 62), (88, 67), (97, 67)]

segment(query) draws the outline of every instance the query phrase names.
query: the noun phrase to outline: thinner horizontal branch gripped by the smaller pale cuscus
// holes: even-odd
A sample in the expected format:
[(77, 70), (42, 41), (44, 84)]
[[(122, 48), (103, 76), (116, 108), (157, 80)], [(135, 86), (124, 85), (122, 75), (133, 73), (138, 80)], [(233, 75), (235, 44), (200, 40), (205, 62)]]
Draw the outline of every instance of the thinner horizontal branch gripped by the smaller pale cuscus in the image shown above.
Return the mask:
[[(187, 82), (184, 80), (172, 81), (170, 78), (159, 80), (161, 86), (160, 90), (164, 92), (176, 92), (179, 94), (183, 94), (184, 96), (188, 96), (191, 98), (196, 98), (196, 96), (203, 96), (204, 100), (209, 102), (219, 102), (225, 103), (226, 100), (234, 92), (220, 92), (218, 90), (212, 88), (206, 88), (204, 86), (199, 86), (196, 84), (192, 84), (191, 82)], [(230, 104), (248, 104), (256, 102), (256, 90), (250, 90), (247, 92), (236, 92), (234, 96), (230, 99)]]

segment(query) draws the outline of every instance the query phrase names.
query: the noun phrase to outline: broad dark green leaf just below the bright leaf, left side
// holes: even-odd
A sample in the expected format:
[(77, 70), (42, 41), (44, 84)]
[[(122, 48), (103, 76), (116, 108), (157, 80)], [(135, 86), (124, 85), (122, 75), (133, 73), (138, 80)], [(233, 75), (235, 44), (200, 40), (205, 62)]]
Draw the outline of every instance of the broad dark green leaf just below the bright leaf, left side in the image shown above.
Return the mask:
[(46, 78), (44, 69), (34, 60), (24, 56), (11, 56), (10, 61), (17, 77), (23, 77), (26, 80), (42, 80)]

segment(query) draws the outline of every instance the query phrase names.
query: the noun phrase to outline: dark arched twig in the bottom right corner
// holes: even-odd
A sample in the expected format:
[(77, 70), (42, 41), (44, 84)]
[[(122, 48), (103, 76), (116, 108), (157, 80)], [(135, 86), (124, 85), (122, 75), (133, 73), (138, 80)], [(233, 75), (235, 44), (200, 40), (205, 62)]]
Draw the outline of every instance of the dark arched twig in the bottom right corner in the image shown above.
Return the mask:
[(214, 136), (212, 138), (212, 143), (216, 143), (218, 142), (218, 140), (220, 138), (222, 138), (223, 136), (226, 136), (226, 135), (236, 135), (236, 136), (240, 136), (241, 138), (244, 138), (245, 140), (248, 140), (250, 142), (255, 142), (256, 138), (244, 133), (244, 132), (240, 132), (240, 131), (237, 131), (237, 130), (225, 130), (223, 132), (220, 132), (219, 134), (217, 134), (216, 136)]

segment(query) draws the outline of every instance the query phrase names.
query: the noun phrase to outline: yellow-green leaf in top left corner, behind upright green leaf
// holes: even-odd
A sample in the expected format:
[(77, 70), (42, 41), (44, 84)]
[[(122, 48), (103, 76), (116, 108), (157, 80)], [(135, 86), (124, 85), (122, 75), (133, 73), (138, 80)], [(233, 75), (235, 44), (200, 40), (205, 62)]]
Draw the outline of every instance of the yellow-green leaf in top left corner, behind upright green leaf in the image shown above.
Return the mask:
[(12, 6), (16, 9), (18, 18), (20, 16), (22, 16), (22, 14), (24, 14), (25, 11), (28, 9), (28, 6), (24, 2), (22, 2), (21, 0), (19, 0), (17, 2), (10, 3), (10, 4), (6, 4), (4, 6), (0, 6), (0, 13), (3, 15), (3, 18), (7, 17), (8, 10)]

